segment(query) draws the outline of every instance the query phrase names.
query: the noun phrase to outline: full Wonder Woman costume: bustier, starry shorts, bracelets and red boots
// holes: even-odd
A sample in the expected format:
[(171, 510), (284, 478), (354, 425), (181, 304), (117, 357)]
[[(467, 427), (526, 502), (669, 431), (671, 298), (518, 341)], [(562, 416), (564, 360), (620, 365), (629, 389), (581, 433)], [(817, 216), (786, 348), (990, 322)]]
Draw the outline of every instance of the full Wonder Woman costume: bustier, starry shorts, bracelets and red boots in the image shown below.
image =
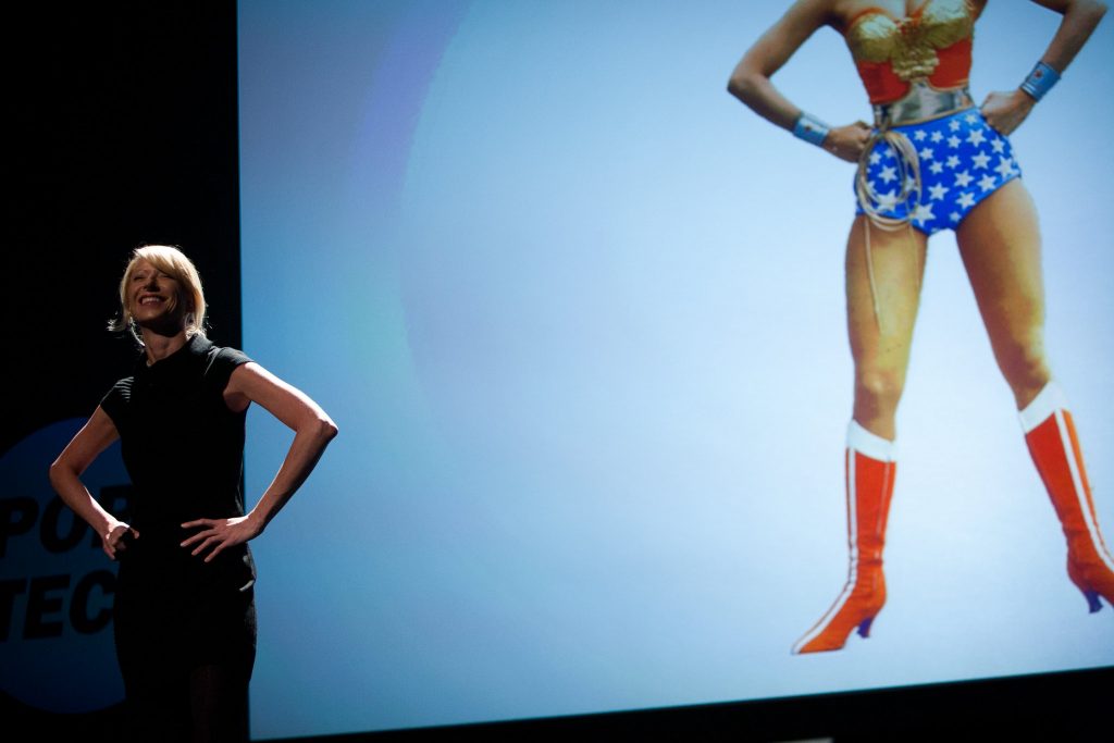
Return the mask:
[[(871, 226), (913, 227), (926, 235), (954, 229), (980, 201), (1020, 176), (1009, 141), (987, 125), (967, 90), (974, 27), (964, 0), (928, 0), (900, 20), (867, 10), (847, 30), (874, 107), (876, 128), (856, 177), (858, 213), (869, 217), (868, 261)], [(794, 134), (820, 144), (825, 128), (803, 115), (802, 123)], [(877, 301), (874, 312), (878, 317)], [(1098, 529), (1075, 423), (1056, 382), (1049, 381), (1019, 418), (1067, 539), (1068, 577), (1097, 612), (1101, 599), (1114, 604), (1114, 558)], [(847, 584), (794, 653), (838, 651), (856, 630), (869, 636), (886, 603), (882, 549), (896, 446), (852, 420), (846, 453)]]

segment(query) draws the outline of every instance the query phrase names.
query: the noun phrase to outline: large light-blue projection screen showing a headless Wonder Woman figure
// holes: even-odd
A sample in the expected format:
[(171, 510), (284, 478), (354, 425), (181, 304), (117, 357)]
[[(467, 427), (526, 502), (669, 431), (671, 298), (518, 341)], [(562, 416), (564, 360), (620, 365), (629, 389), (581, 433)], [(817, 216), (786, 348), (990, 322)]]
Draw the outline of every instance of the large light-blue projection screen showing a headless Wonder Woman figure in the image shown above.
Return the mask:
[[(1114, 664), (1111, 25), (1016, 126), (965, 96), (1061, 14), (935, 0), (909, 71), (892, 4), (241, 3), (244, 346), (344, 430), (253, 542), (253, 735)], [(725, 89), (760, 38), (837, 157)]]

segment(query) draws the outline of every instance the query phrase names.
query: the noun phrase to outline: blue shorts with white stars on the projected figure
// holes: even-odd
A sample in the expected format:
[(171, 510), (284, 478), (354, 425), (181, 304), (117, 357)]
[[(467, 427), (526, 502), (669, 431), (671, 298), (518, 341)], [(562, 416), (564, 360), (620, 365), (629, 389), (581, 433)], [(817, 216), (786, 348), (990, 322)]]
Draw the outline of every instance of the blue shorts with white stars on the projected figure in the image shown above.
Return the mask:
[[(986, 123), (977, 108), (906, 126), (892, 131), (908, 137), (920, 164), (921, 187), (912, 188), (900, 155), (880, 140), (867, 156), (867, 178), (872, 207), (880, 214), (909, 223), (931, 235), (955, 229), (984, 198), (1022, 175), (1009, 140)], [(909, 196), (901, 197), (901, 172), (907, 172)], [(862, 214), (862, 205), (856, 214)]]

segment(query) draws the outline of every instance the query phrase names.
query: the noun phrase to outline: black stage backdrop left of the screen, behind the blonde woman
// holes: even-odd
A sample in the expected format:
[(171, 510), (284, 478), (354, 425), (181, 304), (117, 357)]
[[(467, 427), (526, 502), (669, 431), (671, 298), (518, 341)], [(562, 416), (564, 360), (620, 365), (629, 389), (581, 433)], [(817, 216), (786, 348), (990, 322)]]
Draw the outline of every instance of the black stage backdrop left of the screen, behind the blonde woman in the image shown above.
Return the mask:
[[(187, 251), (212, 338), (241, 344), (235, 2), (17, 3), (4, 16), (14, 196), (0, 258), (0, 452), (88, 417), (125, 375), (136, 346), (106, 323), (140, 243)], [(20, 495), (10, 489), (0, 497)], [(28, 740), (92, 741), (111, 737), (116, 711), (50, 715), (0, 691), (4, 740), (20, 735), (12, 720), (22, 716)]]

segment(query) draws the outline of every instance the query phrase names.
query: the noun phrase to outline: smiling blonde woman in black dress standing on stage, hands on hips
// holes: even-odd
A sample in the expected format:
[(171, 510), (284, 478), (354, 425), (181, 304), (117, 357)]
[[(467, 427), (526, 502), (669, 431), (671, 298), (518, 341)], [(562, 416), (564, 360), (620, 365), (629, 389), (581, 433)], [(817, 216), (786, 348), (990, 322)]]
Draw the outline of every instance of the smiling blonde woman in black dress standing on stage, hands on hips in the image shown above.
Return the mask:
[[(50, 468), (62, 500), (119, 559), (117, 657), (135, 740), (246, 740), (255, 659), (255, 566), (247, 541), (294, 495), (336, 427), (310, 398), (205, 335), (194, 264), (166, 245), (137, 248), (120, 315), (143, 351)], [(294, 431), (271, 486), (245, 514), (244, 420), (251, 403)], [(80, 480), (115, 440), (134, 488), (130, 524)]]

